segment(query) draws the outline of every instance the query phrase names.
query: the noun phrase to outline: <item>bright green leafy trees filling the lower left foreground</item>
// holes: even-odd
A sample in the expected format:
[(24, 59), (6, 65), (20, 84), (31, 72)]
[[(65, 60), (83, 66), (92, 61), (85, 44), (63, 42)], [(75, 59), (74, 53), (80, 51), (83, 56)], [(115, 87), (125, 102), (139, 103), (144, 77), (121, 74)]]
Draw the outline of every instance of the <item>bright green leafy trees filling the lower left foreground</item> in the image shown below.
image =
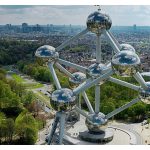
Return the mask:
[(6, 78), (0, 68), (0, 144), (34, 144), (37, 140), (40, 106), (31, 91)]

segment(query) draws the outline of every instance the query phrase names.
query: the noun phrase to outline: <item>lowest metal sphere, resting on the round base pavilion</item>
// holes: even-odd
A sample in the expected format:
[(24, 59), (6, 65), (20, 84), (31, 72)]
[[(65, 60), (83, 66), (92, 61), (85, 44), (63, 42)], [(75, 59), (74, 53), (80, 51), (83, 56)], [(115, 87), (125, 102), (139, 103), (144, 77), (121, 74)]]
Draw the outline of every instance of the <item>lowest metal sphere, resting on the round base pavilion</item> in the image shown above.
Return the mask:
[(85, 124), (90, 132), (99, 133), (105, 130), (107, 119), (103, 113), (90, 114), (89, 117), (91, 119), (86, 118)]

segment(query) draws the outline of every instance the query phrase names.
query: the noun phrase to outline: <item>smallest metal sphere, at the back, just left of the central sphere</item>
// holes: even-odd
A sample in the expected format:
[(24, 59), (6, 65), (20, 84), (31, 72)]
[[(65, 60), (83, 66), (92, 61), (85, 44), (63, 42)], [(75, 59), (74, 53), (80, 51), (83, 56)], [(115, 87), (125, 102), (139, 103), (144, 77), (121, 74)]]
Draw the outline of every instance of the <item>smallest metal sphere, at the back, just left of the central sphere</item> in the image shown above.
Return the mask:
[(86, 75), (82, 72), (75, 72), (72, 76), (72, 78), (69, 78), (69, 81), (74, 84), (80, 84), (86, 80)]

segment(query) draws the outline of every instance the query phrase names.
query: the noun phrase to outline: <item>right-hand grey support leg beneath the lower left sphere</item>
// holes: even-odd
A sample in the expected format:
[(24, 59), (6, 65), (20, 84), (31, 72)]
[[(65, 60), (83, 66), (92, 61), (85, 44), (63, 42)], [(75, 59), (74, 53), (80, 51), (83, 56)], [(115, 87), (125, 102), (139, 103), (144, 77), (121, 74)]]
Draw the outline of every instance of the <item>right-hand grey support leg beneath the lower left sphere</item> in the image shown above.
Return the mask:
[(60, 116), (60, 130), (59, 130), (59, 145), (62, 145), (63, 142), (63, 137), (64, 137), (64, 131), (65, 131), (65, 118), (66, 118), (66, 114), (61, 112), (59, 114)]

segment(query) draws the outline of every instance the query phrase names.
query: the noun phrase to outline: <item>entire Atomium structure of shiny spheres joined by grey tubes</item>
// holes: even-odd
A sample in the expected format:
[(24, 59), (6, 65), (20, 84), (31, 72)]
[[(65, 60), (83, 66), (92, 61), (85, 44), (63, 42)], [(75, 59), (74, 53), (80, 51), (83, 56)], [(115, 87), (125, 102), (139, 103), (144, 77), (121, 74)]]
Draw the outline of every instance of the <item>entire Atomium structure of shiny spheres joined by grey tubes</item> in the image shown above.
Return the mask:
[[(100, 10), (100, 9), (99, 9)], [(63, 143), (63, 135), (65, 130), (65, 121), (67, 118), (73, 116), (76, 121), (79, 121), (78, 114), (83, 115), (86, 120), (85, 124), (86, 132), (79, 132), (79, 136), (83, 137), (84, 140), (88, 141), (106, 141), (112, 140), (113, 134), (110, 133), (107, 128), (107, 121), (114, 115), (122, 112), (133, 104), (143, 101), (146, 104), (150, 104), (150, 82), (145, 82), (143, 77), (138, 72), (140, 70), (140, 58), (135, 53), (135, 49), (129, 44), (119, 44), (115, 37), (108, 31), (111, 28), (112, 21), (109, 15), (102, 13), (101, 11), (96, 11), (90, 14), (87, 18), (87, 28), (77, 34), (76, 36), (70, 38), (69, 40), (62, 43), (56, 49), (49, 45), (41, 46), (37, 49), (35, 56), (43, 58), (51, 71), (56, 90), (52, 93), (52, 98), (50, 100), (51, 106), (56, 111), (54, 125), (52, 126), (51, 133), (49, 135), (48, 144), (52, 143), (53, 137), (55, 136), (57, 124), (59, 122), (59, 134), (58, 141), (59, 144)], [(59, 58), (58, 51), (62, 50), (65, 46), (69, 45), (74, 40), (91, 31), (96, 34), (96, 62), (90, 66), (80, 66), (63, 59)], [(108, 42), (113, 48), (113, 52), (116, 53), (112, 56), (112, 60), (104, 63), (101, 59), (101, 35), (107, 37)], [(55, 62), (55, 63), (54, 63)], [(76, 86), (71, 86), (69, 88), (62, 88), (55, 72), (56, 67), (69, 77), (69, 81)], [(65, 67), (64, 67), (65, 66)], [(74, 69), (77, 70), (75, 73), (68, 71)], [(135, 80), (140, 84), (140, 86), (128, 83), (126, 81), (113, 78), (112, 75), (117, 73), (119, 75), (133, 76)], [(86, 75), (87, 76), (86, 76)], [(129, 103), (113, 110), (108, 114), (103, 114), (100, 110), (100, 93), (101, 93), (101, 81), (109, 81), (115, 84), (119, 84), (124, 87), (131, 88), (139, 92), (139, 96), (133, 99)], [(95, 86), (95, 108), (90, 103), (88, 94), (86, 91)], [(148, 87), (148, 88), (147, 88)], [(81, 107), (81, 97), (83, 98), (85, 104), (87, 105), (88, 112)], [(77, 112), (77, 113), (76, 113)], [(66, 118), (66, 116), (68, 116)], [(81, 118), (81, 117), (79, 117)], [(106, 129), (106, 130), (105, 130)], [(81, 133), (81, 134), (80, 134)], [(106, 134), (105, 134), (106, 133)], [(107, 134), (108, 133), (108, 134)], [(107, 138), (104, 137), (107, 135)]]

